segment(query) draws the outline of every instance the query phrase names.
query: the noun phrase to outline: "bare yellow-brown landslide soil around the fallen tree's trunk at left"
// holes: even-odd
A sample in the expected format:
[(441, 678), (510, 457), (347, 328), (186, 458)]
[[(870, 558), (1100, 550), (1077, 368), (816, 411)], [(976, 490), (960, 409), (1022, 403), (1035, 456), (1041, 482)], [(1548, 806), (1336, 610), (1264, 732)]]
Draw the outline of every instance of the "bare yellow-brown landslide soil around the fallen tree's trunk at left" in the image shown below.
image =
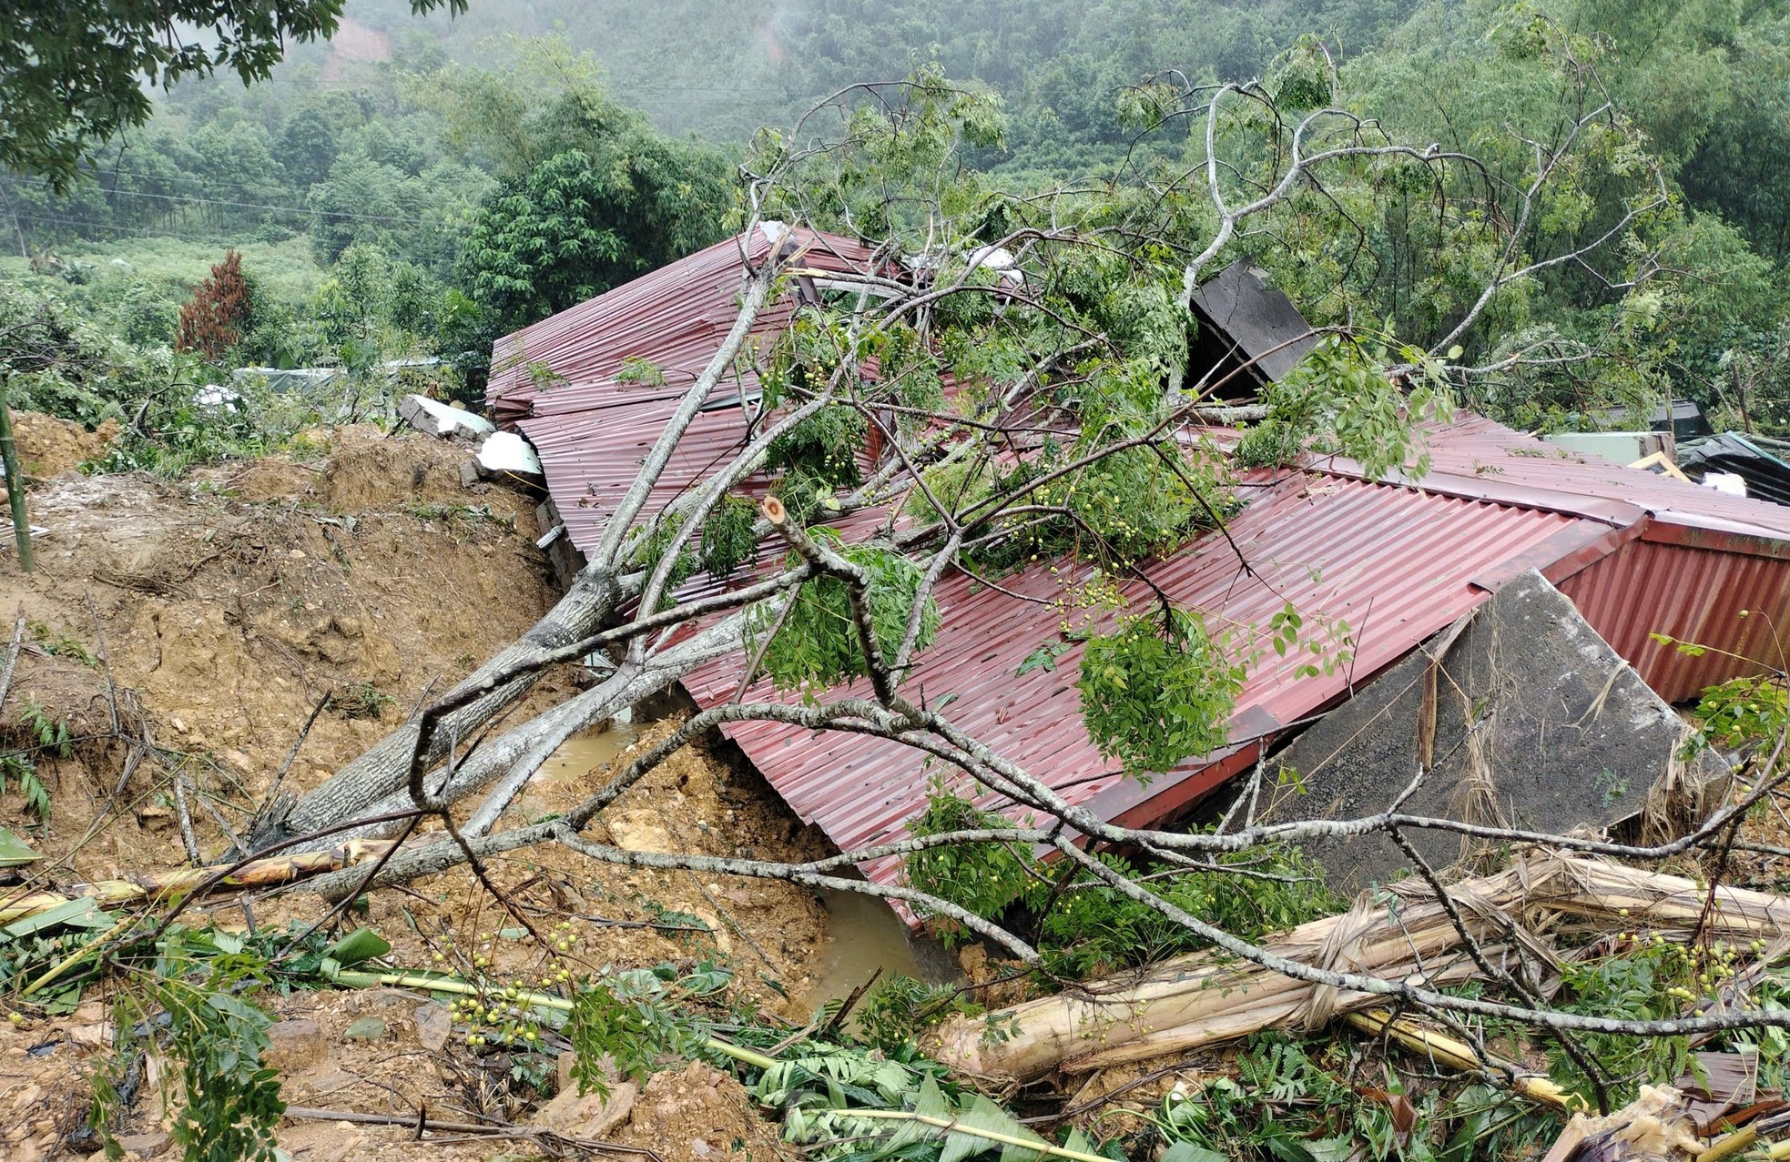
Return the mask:
[[(47, 533), (36, 540), (32, 574), (11, 551), (0, 554), (0, 635), (18, 610), (27, 626), (0, 703), (0, 745), (27, 744), (25, 720), (41, 713), (66, 724), (73, 754), (39, 762), (54, 801), (47, 824), (9, 785), (0, 826), (43, 853), (34, 871), (52, 885), (186, 865), (177, 778), (197, 846), (208, 858), (218, 855), (227, 847), (224, 826), (249, 826), (320, 701), (335, 697), (285, 776), (286, 790), (319, 785), (428, 692), (446, 690), (519, 636), (557, 597), (533, 547), (530, 497), (494, 483), (462, 486), (469, 454), (449, 442), (344, 427), (319, 433), (310, 459), (274, 456), (163, 481), (77, 474), (109, 433), (30, 415), (18, 417), (18, 433), (32, 522)], [(569, 690), (567, 676), (548, 678), (510, 722)], [(569, 749), (512, 817), (564, 810), (614, 762), (671, 728), (650, 724), (637, 738), (612, 733)], [(822, 851), (755, 774), (703, 745), (684, 747), (630, 790), (594, 833), (635, 849), (768, 858)], [(485, 971), (503, 983), (533, 981), (555, 964), (596, 973), (718, 956), (732, 965), (736, 989), (773, 1014), (793, 1008), (786, 994), (804, 994), (823, 940), (822, 908), (784, 883), (626, 872), (560, 849), (512, 853), (490, 862), (489, 878), (526, 926), (469, 871), (376, 892), (367, 915), (351, 922), (390, 939), (392, 964), (473, 971), (473, 956), (485, 956)], [(199, 912), (243, 928), (311, 922), (328, 906), (285, 894)], [(569, 949), (542, 946), (524, 928), (558, 931)], [(25, 1012), (23, 1026), (0, 1024), (0, 1155), (29, 1162), (95, 1149), (75, 1132), (91, 1105), (90, 1078), (109, 1051), (106, 999), (97, 987), (73, 1014)], [(448, 1121), (537, 1116), (542, 1094), (508, 1076), (508, 1058), (467, 1048), (465, 1030), (448, 1030), (446, 1012), (426, 996), (294, 992), (268, 1003), (277, 1019), (311, 1021), (320, 1033), (320, 1055), (283, 1065), (292, 1105), (406, 1119), (419, 1107)], [(347, 1039), (349, 1024), (369, 1015), (379, 1033)], [(116, 1132), (131, 1135), (140, 1157), (174, 1157), (154, 1060), (149, 1074)], [(732, 1078), (687, 1069), (655, 1076), (609, 1121), (607, 1137), (664, 1158), (764, 1158), (782, 1149), (775, 1126)], [(526, 1139), (419, 1142), (410, 1128), (328, 1119), (288, 1119), (281, 1144), (297, 1162), (533, 1149)]]

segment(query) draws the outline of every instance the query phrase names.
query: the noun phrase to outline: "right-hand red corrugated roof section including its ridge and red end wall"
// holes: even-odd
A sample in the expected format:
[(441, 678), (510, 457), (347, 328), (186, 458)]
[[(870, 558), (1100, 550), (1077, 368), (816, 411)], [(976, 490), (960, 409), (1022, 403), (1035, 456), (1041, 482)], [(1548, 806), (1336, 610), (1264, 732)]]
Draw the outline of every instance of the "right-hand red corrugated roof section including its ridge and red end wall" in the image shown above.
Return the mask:
[[(1672, 699), (1733, 676), (1738, 663), (1722, 661), (1717, 669), (1724, 672), (1715, 674), (1708, 661), (1659, 647), (1650, 631), (1724, 640), (1727, 631), (1717, 622), (1745, 608), (1736, 602), (1779, 611), (1777, 624), (1786, 624), (1790, 563), (1679, 547), (1679, 554), (1697, 554), (1695, 568), (1668, 583), (1641, 568), (1656, 558), (1631, 558), (1640, 545), (1624, 545), (1675, 522), (1749, 551), (1783, 551), (1790, 509), (1595, 458), (1556, 456), (1552, 445), (1480, 417), (1432, 431), (1428, 449), (1434, 467), (1416, 486), (1368, 483), (1346, 463), (1276, 479), (1258, 474), (1230, 540), (1203, 536), (1149, 570), (1174, 601), (1206, 611), (1214, 626), (1260, 627), (1291, 601), (1308, 627), (1344, 620), (1357, 640), (1353, 667), (1328, 676), (1294, 678), (1298, 660), (1260, 656), (1237, 701), (1233, 745), (1224, 754), (1194, 758), (1147, 787), (1122, 779), (1081, 726), (1074, 688), (1079, 645), (1058, 658), (1056, 672), (1017, 674), (1040, 644), (1056, 638), (1058, 613), (961, 576), (940, 586), (943, 631), (915, 667), (911, 690), (934, 703), (956, 695), (949, 710), (954, 720), (1072, 803), (1108, 819), (1155, 822), (1251, 760), (1257, 740), (1346, 697), (1351, 679), (1366, 681), (1405, 656), (1523, 568), (1543, 568), (1561, 581), (1618, 653), (1643, 678), (1663, 683), (1661, 694)], [(1239, 551), (1253, 572), (1240, 567)], [(1001, 585), (1031, 597), (1056, 594), (1044, 568)], [(1131, 595), (1147, 599), (1142, 585)], [(1681, 690), (1686, 683), (1699, 685)], [(702, 704), (732, 697), (737, 685), (730, 661), (686, 681)], [(752, 697), (771, 694), (761, 683)], [(734, 724), (729, 733), (791, 808), (841, 849), (899, 837), (924, 808), (929, 774), (938, 770), (936, 763), (924, 769), (916, 751), (856, 735), (755, 722)], [(988, 796), (984, 803), (1001, 806)], [(865, 871), (891, 880), (900, 869), (884, 860)]]

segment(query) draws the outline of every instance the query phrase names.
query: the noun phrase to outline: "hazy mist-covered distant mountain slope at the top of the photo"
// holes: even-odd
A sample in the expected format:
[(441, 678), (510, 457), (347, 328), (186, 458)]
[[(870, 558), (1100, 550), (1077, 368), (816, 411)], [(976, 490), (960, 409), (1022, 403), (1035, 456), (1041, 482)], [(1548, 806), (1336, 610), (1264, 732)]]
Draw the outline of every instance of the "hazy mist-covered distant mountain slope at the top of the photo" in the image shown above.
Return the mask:
[(1113, 95), (1151, 70), (1257, 75), (1305, 32), (1360, 52), (1414, 0), (473, 0), (458, 20), (408, 0), (349, 0), (331, 59), (388, 38), (399, 59), (501, 59), (501, 38), (560, 32), (594, 54), (625, 104), (668, 131), (739, 141), (863, 80), (938, 59), (1001, 91), (1026, 145), (1117, 141)]

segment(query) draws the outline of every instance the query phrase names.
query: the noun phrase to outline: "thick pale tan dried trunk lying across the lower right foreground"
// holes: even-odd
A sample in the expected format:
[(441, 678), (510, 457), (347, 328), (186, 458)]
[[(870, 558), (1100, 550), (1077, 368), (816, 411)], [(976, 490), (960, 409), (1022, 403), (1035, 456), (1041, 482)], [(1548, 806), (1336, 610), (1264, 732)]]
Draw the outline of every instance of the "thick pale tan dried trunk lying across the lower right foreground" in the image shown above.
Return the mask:
[[(1387, 899), (1391, 896), (1391, 899)], [(1511, 933), (1530, 955), (1550, 960), (1541, 933), (1575, 922), (1602, 930), (1693, 930), (1708, 888), (1606, 860), (1536, 851), (1507, 871), (1448, 888), (1468, 931), (1487, 955), (1511, 955)], [(1720, 887), (1706, 931), (1751, 940), (1790, 935), (1790, 897)], [(1264, 940), (1289, 960), (1382, 980), (1418, 973), (1428, 987), (1477, 976), (1459, 951), (1461, 937), (1421, 880), (1378, 897), (1364, 894), (1334, 917)], [(1249, 962), (1194, 953), (1155, 969), (1076, 992), (1026, 1001), (979, 1019), (958, 1017), (931, 1040), (933, 1055), (956, 1069), (1035, 1078), (1185, 1053), (1271, 1026), (1319, 1028), (1330, 1017), (1384, 1005), (1369, 992), (1342, 992), (1296, 981)], [(1006, 1039), (993, 1028), (1017, 1028)]]

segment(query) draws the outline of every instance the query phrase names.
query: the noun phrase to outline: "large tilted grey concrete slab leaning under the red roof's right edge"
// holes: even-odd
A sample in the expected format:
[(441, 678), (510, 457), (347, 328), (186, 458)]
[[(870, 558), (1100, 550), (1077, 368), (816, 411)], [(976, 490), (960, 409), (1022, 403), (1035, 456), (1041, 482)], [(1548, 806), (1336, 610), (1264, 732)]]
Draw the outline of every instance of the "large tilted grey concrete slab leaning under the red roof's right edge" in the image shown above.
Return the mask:
[[(1461, 635), (1441, 633), (1267, 763), (1257, 819), (1357, 819), (1387, 810), (1418, 774), (1419, 719), (1434, 651), (1432, 769), (1405, 815), (1566, 833), (1636, 815), (1674, 763), (1686, 724), (1536, 570), (1498, 590)], [(1690, 760), (1688, 787), (1715, 787), (1727, 763)], [(1278, 776), (1278, 778), (1274, 778)], [(1437, 829), (1405, 838), (1436, 869), (1473, 840)], [(1330, 887), (1351, 894), (1409, 867), (1382, 833), (1301, 844)]]

